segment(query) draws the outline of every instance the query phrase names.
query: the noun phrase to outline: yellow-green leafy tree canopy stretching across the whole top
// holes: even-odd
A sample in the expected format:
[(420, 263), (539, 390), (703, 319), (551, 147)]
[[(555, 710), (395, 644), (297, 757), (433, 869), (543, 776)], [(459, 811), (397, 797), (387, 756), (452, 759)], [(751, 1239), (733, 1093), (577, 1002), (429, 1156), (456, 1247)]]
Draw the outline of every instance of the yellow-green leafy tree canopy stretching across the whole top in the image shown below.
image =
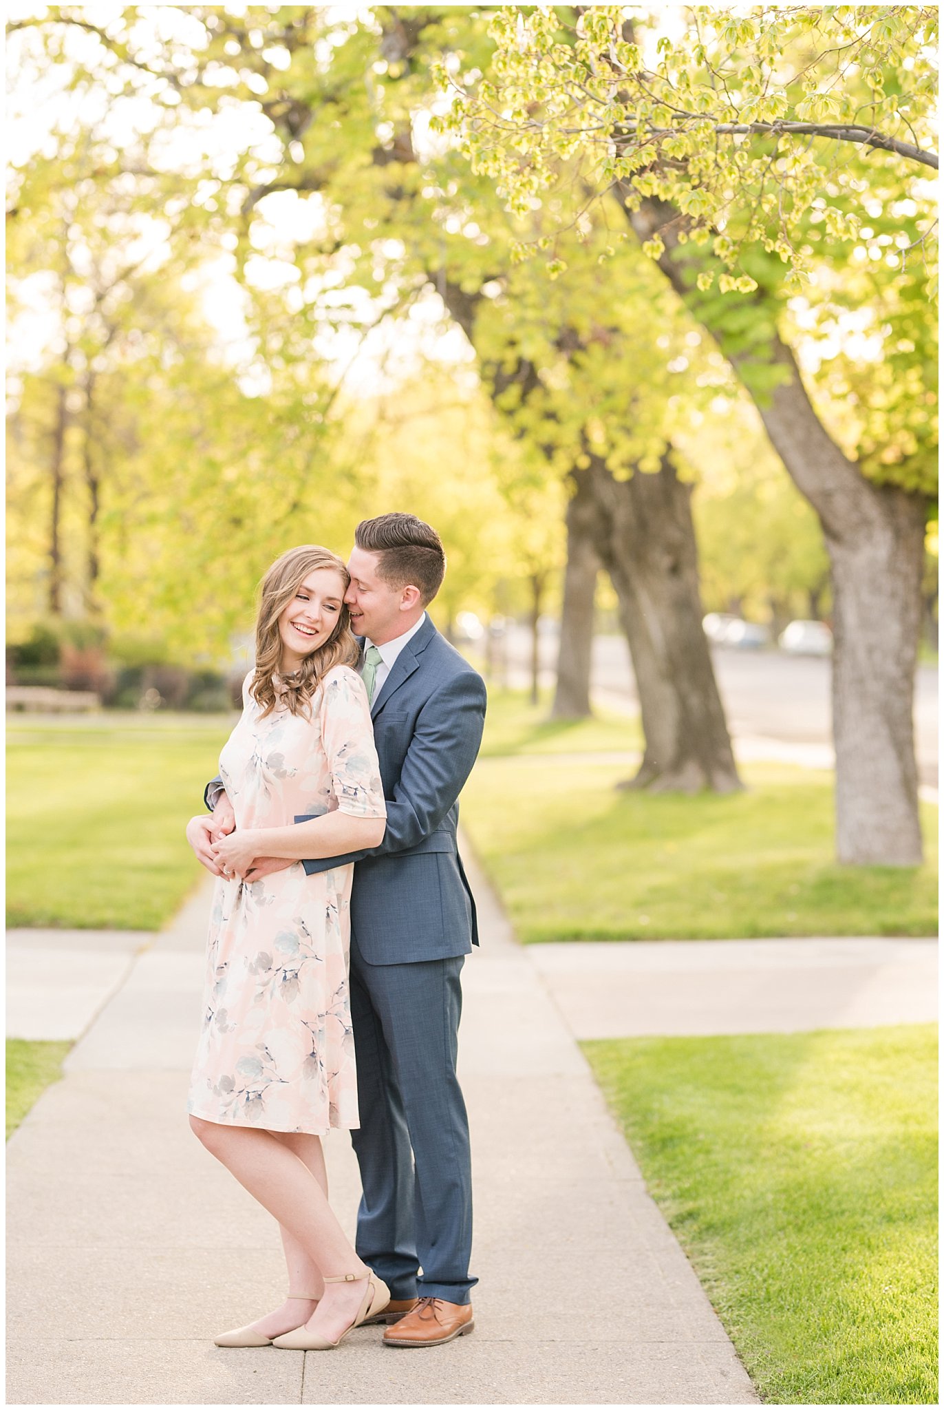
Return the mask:
[[(80, 361), (96, 358), (97, 523), (116, 620), (142, 609), (128, 584), (145, 564), (137, 571), (148, 618), (186, 637), (187, 650), (218, 649), (245, 616), (261, 560), (286, 534), (302, 526), (342, 543), (365, 498), (380, 492), (413, 496), (454, 525), (468, 560), (459, 581), (487, 595), (473, 571), (475, 534), (485, 533), (473, 477), (496, 426), (504, 440), (489, 453), (495, 475), (559, 491), (590, 423), (595, 450), (628, 474), (658, 462), (669, 436), (733, 395), (721, 355), (697, 340), (651, 259), (675, 268), (686, 258), (726, 350), (755, 354), (745, 372), (755, 392), (781, 375), (764, 360), (774, 321), (795, 317), (797, 343), (819, 358), (809, 381), (830, 430), (851, 454), (862, 447), (876, 478), (924, 484), (934, 410), (924, 169), (850, 142), (758, 130), (814, 110), (927, 142), (931, 17), (886, 8), (700, 7), (690, 28), (679, 11), (671, 37), (658, 14), (635, 16), (628, 37), (617, 6), (586, 7), (576, 20), (520, 6), (487, 16), (376, 7), (356, 20), (344, 7), (176, 7), (192, 30), (175, 39), (155, 28), (161, 7), (124, 7), (100, 38), (83, 30), (76, 93), (107, 93), (118, 127), (148, 93), (148, 111), (162, 116), (154, 137), (134, 135), (135, 123), (121, 128), (123, 152), (103, 133), (63, 133), (55, 161), (15, 172), (11, 204), (24, 214), (11, 221), (11, 255), (24, 269), (56, 268), (63, 200), (76, 203), (79, 245), (94, 247), (99, 264), (125, 248), (135, 221), (158, 217), (169, 221), (172, 255), (108, 295), (118, 341), (103, 348), (96, 317), (72, 310), (73, 361), (49, 361), (24, 384), (23, 422), (35, 430), (11, 457), (17, 601), (35, 595), (41, 571), (55, 391), (75, 389)], [(56, 7), (39, 23), (44, 62), (62, 63), (73, 16), (85, 18)], [(890, 35), (872, 32), (889, 18)], [(170, 154), (175, 134), (182, 147)], [(668, 237), (647, 241), (648, 259), (596, 199), (614, 182), (630, 210), (644, 200), (673, 207)], [(283, 185), (300, 189), (299, 204), (317, 204), (320, 223), (293, 230)], [(224, 348), (200, 310), (220, 257), (237, 262), (249, 300), (245, 348), (235, 334)], [(276, 257), (285, 286), (265, 293), (252, 281)], [(77, 298), (77, 264), (70, 278)], [(349, 357), (337, 350), (369, 323), (365, 307), (399, 303), (427, 317), (434, 289), (461, 292), (455, 317), (472, 329), (478, 372), (459, 361), (457, 378), (478, 375), (476, 398), (495, 389), (499, 410), (489, 410), (487, 434), (469, 437), (473, 453), (462, 430), (472, 413), (448, 430), (433, 412), (417, 413), (420, 431), (399, 434), (399, 454), (410, 461), (435, 422), (433, 451), (423, 472), (396, 478), (392, 462), (361, 454), (361, 423), (351, 403), (331, 400), (328, 382)], [(881, 309), (875, 326), (850, 326), (848, 313), (867, 306)], [(434, 321), (426, 329), (438, 344)], [(400, 324), (392, 327), (390, 344)], [(857, 372), (862, 338), (882, 355)], [(75, 427), (66, 448), (69, 571), (80, 588), (87, 492)], [(462, 494), (437, 477), (461, 478)], [(511, 498), (482, 491), (496, 523), (507, 522), (502, 503)], [(534, 527), (535, 563), (541, 544), (552, 558), (559, 523), (547, 502), (538, 512), (521, 492), (507, 512), (523, 539)], [(500, 553), (486, 557), (493, 584)]]

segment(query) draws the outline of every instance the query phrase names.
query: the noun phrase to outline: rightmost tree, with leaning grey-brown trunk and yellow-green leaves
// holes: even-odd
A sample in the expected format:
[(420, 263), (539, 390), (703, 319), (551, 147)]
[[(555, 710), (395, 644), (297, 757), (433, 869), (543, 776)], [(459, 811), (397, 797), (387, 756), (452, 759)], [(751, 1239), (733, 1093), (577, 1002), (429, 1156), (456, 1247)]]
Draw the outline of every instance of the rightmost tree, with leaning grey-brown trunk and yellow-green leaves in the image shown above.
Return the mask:
[[(834, 591), (837, 849), (851, 863), (913, 864), (921, 856), (912, 701), (931, 486), (933, 329), (914, 312), (916, 286), (926, 279), (905, 247), (930, 258), (920, 173), (933, 165), (924, 145), (933, 23), (929, 10), (900, 7), (879, 17), (850, 7), (750, 20), (696, 11), (681, 38), (650, 45), (650, 63), (616, 7), (592, 7), (564, 38), (549, 11), (503, 11), (485, 94), (464, 94), (448, 120), (471, 124), (473, 161), (499, 178), (511, 204), (537, 200), (561, 161), (588, 159), (590, 197), (616, 196), (642, 248), (738, 371), (771, 443), (816, 509)], [(637, 117), (628, 70), (652, 103)], [(693, 96), (675, 121), (671, 99), (686, 85)], [(710, 145), (695, 120), (703, 103), (716, 137)], [(734, 125), (747, 131), (731, 133), (721, 121), (724, 103), (738, 109)], [(820, 131), (833, 103), (845, 127), (865, 111), (875, 140)], [(799, 133), (790, 114), (809, 116), (817, 131)], [(899, 138), (903, 124), (914, 141)], [(833, 159), (837, 141), (848, 141), (841, 164)], [(843, 444), (841, 417), (816, 395), (816, 382), (810, 395), (788, 341), (802, 341), (789, 326), (789, 300), (802, 289), (814, 321), (843, 310), (837, 283), (852, 257), (861, 258), (855, 251), (871, 262), (871, 245), (859, 244), (875, 235), (872, 227), (864, 234), (857, 213), (862, 193), (868, 214), (898, 220), (903, 241), (900, 255), (876, 245), (869, 303), (879, 317), (892, 310), (876, 333), (888, 354), (917, 355), (907, 389), (899, 379), (898, 391), (881, 398), (879, 415), (862, 417), (859, 443)], [(564, 203), (555, 199), (562, 224)], [(895, 340), (903, 321), (912, 337)], [(920, 422), (916, 434), (906, 434), (903, 417)]]

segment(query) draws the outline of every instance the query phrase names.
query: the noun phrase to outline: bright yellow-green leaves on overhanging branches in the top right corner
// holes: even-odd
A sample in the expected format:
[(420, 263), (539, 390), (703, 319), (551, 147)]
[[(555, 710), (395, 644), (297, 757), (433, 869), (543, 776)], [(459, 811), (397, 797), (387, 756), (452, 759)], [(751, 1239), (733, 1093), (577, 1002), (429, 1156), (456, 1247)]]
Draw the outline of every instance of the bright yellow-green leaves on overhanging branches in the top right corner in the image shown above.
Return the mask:
[[(572, 44), (557, 42), (557, 24), (544, 8), (500, 10), (487, 100), (475, 83), (465, 90), (464, 149), (482, 171), (487, 152), (495, 175), (499, 154), (514, 154), (499, 189), (516, 216), (554, 188), (561, 162), (593, 157), (599, 182), (621, 179), (671, 202), (689, 217), (688, 234), (734, 227), (719, 252), (730, 271), (744, 248), (764, 243), (800, 286), (810, 255), (797, 234), (823, 169), (844, 197), (857, 189), (852, 137), (906, 144), (889, 152), (867, 142), (869, 185), (879, 188), (914, 180), (907, 148), (934, 141), (930, 7), (892, 6), (878, 17), (868, 6), (750, 16), (704, 7), (672, 35), (658, 17), (637, 17), (633, 42), (619, 6), (588, 7)], [(813, 133), (797, 130), (810, 124)], [(930, 243), (923, 254), (933, 259)]]

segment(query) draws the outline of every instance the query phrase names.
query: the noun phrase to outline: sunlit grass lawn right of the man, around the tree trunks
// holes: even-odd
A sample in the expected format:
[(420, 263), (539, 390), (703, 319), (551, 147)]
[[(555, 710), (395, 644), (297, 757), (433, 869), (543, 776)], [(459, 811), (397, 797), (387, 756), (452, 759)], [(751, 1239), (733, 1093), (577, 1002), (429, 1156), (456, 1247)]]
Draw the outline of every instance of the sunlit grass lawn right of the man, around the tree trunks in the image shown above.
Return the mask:
[(752, 764), (740, 794), (617, 792), (631, 764), (552, 750), (611, 752), (633, 722), (541, 719), (523, 697), (490, 701), (462, 794), (462, 823), (521, 940), (936, 933), (931, 805), (923, 867), (841, 867), (828, 773)]

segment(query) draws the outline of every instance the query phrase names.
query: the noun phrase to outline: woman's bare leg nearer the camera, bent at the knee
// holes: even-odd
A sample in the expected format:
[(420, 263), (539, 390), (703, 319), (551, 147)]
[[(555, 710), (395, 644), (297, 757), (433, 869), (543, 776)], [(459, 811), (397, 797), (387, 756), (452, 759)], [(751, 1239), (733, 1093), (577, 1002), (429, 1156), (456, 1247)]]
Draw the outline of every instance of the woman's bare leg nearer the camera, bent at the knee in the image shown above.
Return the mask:
[[(323, 1277), (338, 1273), (356, 1276), (356, 1282), (328, 1283), (311, 1318), (313, 1330), (334, 1341), (356, 1316), (365, 1290), (362, 1279), (369, 1270), (348, 1242), (317, 1175), (286, 1145), (283, 1132), (276, 1136), (252, 1127), (223, 1127), (200, 1117), (190, 1117), (190, 1125), (207, 1151), (279, 1221)], [(310, 1155), (310, 1149), (306, 1153)], [(296, 1292), (294, 1287), (290, 1290)], [(297, 1289), (309, 1290), (316, 1292)], [(304, 1311), (303, 1303), (286, 1306)], [(261, 1318), (261, 1323), (266, 1321), (268, 1318)], [(262, 1335), (271, 1337), (272, 1332), (263, 1331), (261, 1323), (254, 1325)], [(297, 1327), (299, 1321), (294, 1320), (292, 1325)]]

